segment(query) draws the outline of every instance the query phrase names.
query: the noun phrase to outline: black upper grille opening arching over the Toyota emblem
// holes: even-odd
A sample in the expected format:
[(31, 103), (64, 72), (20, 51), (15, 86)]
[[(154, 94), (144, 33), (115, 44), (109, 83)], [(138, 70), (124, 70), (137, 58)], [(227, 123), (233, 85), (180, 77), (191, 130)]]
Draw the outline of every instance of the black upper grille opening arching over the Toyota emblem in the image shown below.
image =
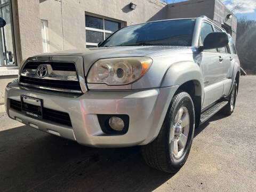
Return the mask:
[(60, 71), (76, 71), (76, 66), (74, 63), (68, 62), (27, 62), (23, 69), (37, 69), (39, 65), (48, 64), (51, 65), (52, 70)]

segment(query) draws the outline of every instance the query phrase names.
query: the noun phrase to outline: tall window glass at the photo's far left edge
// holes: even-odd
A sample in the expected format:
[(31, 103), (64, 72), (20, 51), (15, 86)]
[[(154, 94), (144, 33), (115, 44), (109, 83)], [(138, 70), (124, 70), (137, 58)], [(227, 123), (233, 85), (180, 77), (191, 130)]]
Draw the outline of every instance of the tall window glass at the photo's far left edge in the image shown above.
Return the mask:
[(0, 29), (0, 67), (16, 66), (10, 0), (0, 0), (0, 17), (6, 22), (6, 26)]

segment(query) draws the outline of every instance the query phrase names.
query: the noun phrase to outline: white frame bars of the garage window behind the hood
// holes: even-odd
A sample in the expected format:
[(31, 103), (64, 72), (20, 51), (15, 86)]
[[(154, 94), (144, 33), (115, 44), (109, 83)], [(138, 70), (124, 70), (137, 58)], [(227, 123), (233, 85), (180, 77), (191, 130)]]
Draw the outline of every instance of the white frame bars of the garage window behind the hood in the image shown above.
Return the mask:
[[(118, 20), (114, 20), (114, 19), (102, 17), (102, 16), (99, 16), (99, 15), (88, 14), (88, 13), (85, 13), (85, 17), (86, 17), (86, 16), (91, 16), (91, 17), (103, 19), (103, 29), (96, 29), (96, 28), (91, 28), (91, 27), (85, 27), (85, 33), (86, 33), (86, 30), (102, 32), (102, 33), (103, 33), (103, 41), (105, 41), (105, 39), (106, 39), (106, 35), (105, 35), (106, 33), (113, 34), (113, 33), (115, 32), (115, 31), (105, 30), (105, 20), (118, 22), (118, 23), (121, 24), (121, 28), (122, 28), (122, 26), (123, 26), (123, 22), (122, 22), (122, 21), (118, 21)], [(86, 22), (86, 21), (85, 21), (85, 22)], [(86, 23), (85, 23), (85, 26), (86, 26)], [(87, 42), (87, 40), (86, 40), (86, 45), (98, 46), (98, 43), (89, 43), (89, 42)]]

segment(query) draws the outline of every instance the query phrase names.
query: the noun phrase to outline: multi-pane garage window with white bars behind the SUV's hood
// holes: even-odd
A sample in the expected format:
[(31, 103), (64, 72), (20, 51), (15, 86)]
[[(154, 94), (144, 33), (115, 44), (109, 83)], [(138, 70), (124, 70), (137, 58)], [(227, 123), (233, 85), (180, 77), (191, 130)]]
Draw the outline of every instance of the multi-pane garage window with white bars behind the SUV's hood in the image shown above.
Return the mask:
[(85, 15), (86, 47), (97, 47), (120, 28), (121, 22)]

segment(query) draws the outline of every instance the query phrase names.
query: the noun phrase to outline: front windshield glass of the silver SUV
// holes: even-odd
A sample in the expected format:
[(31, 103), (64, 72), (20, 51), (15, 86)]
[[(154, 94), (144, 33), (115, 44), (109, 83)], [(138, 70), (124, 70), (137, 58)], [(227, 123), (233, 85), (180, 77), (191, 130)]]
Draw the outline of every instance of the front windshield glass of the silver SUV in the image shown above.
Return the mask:
[(102, 46), (167, 45), (191, 46), (194, 19), (167, 20), (125, 27), (106, 39)]

